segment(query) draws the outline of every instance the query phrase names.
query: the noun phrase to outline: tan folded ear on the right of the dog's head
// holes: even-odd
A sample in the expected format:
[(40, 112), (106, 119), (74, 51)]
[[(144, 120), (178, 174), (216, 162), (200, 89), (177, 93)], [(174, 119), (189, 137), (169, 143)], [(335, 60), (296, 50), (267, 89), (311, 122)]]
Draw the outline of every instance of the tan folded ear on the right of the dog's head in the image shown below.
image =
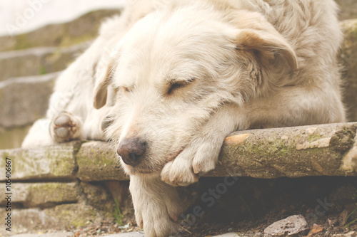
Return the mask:
[(277, 31), (260, 31), (245, 29), (236, 36), (236, 50), (254, 58), (261, 65), (270, 67), (276, 56), (283, 56), (291, 70), (298, 69), (298, 60), (293, 48)]

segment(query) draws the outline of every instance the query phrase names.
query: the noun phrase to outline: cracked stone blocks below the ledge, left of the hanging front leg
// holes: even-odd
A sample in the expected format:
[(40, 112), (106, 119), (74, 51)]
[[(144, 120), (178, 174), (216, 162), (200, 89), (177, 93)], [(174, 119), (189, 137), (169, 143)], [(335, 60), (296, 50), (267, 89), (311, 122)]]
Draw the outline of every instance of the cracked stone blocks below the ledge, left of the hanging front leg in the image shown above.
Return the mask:
[[(125, 216), (123, 221), (130, 221), (134, 214), (129, 185), (121, 186), (119, 182), (111, 184), (114, 184), (111, 185), (113, 193), (106, 189), (106, 183), (13, 182), (10, 194), (0, 195), (0, 215), (11, 213), (11, 233), (78, 229), (113, 221), (116, 199), (121, 214)], [(120, 191), (120, 194), (116, 195), (116, 191)], [(11, 211), (6, 211), (8, 206), (11, 206)], [(5, 229), (1, 228), (0, 236), (4, 233)]]

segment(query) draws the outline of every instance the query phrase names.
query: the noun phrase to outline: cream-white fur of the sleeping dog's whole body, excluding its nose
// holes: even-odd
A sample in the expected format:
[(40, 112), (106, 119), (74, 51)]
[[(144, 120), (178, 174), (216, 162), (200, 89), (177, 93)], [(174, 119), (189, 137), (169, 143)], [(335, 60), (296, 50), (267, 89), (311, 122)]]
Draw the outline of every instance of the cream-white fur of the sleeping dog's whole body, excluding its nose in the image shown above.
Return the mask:
[(140, 164), (122, 162), (136, 221), (147, 236), (168, 236), (182, 211), (174, 186), (213, 169), (228, 133), (345, 120), (336, 9), (332, 0), (133, 1), (59, 77), (23, 147), (144, 141)]

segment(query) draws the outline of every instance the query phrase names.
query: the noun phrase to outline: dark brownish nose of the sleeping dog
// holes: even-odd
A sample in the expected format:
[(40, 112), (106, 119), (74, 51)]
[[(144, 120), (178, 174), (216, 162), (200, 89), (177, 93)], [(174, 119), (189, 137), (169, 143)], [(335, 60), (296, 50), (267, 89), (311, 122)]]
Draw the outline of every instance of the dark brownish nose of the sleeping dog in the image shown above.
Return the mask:
[(129, 137), (119, 143), (116, 150), (125, 164), (135, 167), (141, 162), (141, 157), (146, 151), (146, 142), (141, 141), (138, 137)]

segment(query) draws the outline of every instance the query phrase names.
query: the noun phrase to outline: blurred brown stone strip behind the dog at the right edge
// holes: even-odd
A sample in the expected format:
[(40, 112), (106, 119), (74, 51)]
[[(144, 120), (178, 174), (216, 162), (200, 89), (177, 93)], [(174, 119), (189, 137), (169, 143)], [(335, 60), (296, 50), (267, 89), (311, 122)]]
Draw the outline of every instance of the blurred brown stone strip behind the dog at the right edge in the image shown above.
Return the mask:
[[(350, 0), (346, 1), (346, 6), (357, 11), (357, 7), (351, 5)], [(353, 1), (353, 5), (357, 6), (357, 2)], [(348, 120), (357, 121), (357, 19), (342, 21), (341, 26), (345, 38), (338, 57), (343, 63), (343, 101), (348, 110)]]

